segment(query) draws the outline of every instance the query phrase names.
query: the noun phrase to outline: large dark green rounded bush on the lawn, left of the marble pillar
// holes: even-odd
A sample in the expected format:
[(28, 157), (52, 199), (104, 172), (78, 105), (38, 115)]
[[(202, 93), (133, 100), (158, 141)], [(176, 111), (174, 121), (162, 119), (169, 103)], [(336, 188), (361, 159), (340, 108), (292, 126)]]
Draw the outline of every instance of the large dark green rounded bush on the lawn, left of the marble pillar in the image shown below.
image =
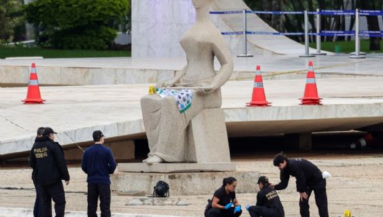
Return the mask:
[(129, 8), (129, 0), (37, 0), (25, 10), (28, 22), (40, 30), (37, 42), (42, 47), (104, 50)]

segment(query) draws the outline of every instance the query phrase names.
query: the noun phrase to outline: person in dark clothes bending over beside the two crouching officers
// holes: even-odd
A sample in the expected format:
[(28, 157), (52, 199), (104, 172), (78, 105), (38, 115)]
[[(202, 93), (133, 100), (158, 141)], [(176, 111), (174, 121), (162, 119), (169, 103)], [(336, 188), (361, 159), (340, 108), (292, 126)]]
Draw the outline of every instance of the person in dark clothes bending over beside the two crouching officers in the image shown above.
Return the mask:
[(281, 182), (277, 185), (271, 185), (274, 189), (286, 189), (290, 176), (294, 176), (297, 180), (297, 192), (300, 195), (299, 208), (302, 217), (310, 216), (308, 198), (313, 191), (320, 217), (328, 217), (326, 179), (322, 177), (322, 172), (317, 166), (302, 158), (288, 159), (284, 154), (277, 154), (273, 163), (281, 171)]

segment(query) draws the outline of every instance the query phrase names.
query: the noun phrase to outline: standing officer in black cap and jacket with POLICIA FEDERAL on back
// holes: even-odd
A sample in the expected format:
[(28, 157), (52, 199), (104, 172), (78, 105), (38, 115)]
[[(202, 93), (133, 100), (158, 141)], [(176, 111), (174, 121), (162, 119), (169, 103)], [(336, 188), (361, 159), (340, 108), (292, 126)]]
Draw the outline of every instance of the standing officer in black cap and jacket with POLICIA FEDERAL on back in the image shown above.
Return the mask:
[(55, 134), (50, 127), (44, 129), (43, 137), (36, 138), (30, 151), (30, 166), (36, 170), (39, 185), (42, 216), (52, 216), (50, 200), (55, 201), (57, 217), (64, 216), (65, 193), (61, 180), (69, 184), (69, 173), (63, 149), (55, 142)]

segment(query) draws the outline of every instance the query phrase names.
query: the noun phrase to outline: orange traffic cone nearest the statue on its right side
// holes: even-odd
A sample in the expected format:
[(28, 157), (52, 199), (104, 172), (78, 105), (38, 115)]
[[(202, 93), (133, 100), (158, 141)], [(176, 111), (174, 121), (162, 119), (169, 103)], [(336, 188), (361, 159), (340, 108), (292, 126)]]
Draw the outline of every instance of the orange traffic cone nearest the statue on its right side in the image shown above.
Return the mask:
[(246, 103), (249, 107), (253, 106), (270, 106), (268, 101), (266, 101), (266, 96), (264, 94), (264, 83), (262, 81), (261, 68), (257, 65), (257, 72), (255, 72), (254, 87), (253, 87), (253, 96), (251, 96), (251, 102)]

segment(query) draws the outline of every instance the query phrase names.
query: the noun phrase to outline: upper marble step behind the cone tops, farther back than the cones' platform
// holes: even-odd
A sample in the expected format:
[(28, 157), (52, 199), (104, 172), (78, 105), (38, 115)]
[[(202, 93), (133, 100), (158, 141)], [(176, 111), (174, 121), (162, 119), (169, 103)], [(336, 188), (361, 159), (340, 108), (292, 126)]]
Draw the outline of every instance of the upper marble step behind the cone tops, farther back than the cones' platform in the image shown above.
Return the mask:
[[(299, 58), (297, 55), (233, 57), (235, 68), (230, 80), (253, 80), (261, 65), (265, 80), (304, 79), (308, 61), (313, 61), (317, 78), (383, 76), (383, 56), (369, 54), (366, 59), (348, 55)], [(113, 85), (166, 81), (186, 64), (179, 59), (80, 58), (80, 59), (0, 59), (0, 86), (27, 84), (28, 67), (37, 65), (43, 85)], [(215, 63), (216, 70), (219, 64)]]

